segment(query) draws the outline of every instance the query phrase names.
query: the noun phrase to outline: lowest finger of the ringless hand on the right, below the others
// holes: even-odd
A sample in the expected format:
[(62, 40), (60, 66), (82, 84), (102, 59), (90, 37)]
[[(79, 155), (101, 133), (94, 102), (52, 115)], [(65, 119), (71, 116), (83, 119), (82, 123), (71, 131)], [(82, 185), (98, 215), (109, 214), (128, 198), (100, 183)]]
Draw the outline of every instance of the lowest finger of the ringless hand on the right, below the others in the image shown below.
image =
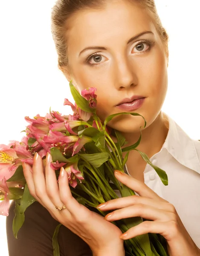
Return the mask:
[(144, 221), (131, 227), (120, 238), (127, 240), (147, 233), (160, 234), (168, 241), (177, 234), (177, 224), (174, 221)]

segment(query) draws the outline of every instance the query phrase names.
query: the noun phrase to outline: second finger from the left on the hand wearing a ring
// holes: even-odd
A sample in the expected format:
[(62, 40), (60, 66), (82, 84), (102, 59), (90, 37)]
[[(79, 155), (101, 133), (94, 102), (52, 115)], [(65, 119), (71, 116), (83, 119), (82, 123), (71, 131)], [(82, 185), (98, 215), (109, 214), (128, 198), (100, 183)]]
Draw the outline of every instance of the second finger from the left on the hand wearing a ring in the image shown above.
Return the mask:
[(52, 203), (46, 193), (46, 182), (43, 173), (42, 158), (38, 155), (38, 153), (35, 153), (34, 156), (32, 175), (35, 186), (35, 195), (40, 199), (42, 204), (55, 215), (57, 209), (55, 209), (55, 205)]

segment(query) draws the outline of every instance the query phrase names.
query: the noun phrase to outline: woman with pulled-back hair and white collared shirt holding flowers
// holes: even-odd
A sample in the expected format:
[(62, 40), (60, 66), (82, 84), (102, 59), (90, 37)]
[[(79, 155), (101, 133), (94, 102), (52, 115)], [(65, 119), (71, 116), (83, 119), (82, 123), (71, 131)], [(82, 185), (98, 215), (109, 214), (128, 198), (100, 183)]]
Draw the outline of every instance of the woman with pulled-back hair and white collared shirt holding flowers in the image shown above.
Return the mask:
[[(140, 196), (100, 205), (102, 210), (113, 210), (103, 218), (72, 198), (65, 172), (57, 183), (49, 166), (50, 155), (44, 176), (36, 154), (32, 170), (27, 164), (23, 169), (29, 190), (39, 203), (26, 210), (18, 239), (12, 235), (11, 206), (7, 218), (9, 255), (52, 255), (52, 236), (59, 221), (63, 224), (58, 236), (61, 255), (122, 256), (123, 239), (160, 233), (171, 256), (199, 256), (200, 142), (191, 140), (161, 111), (168, 84), (168, 35), (154, 0), (58, 0), (52, 11), (52, 33), (58, 67), (79, 92), (97, 88), (97, 112), (102, 120), (124, 111), (145, 117), (147, 125), (138, 148), (167, 172), (169, 185), (164, 186), (132, 151), (128, 175), (115, 175)], [(122, 132), (131, 145), (139, 137), (143, 120), (119, 116), (109, 125)], [(151, 221), (124, 236), (110, 222), (133, 216)]]

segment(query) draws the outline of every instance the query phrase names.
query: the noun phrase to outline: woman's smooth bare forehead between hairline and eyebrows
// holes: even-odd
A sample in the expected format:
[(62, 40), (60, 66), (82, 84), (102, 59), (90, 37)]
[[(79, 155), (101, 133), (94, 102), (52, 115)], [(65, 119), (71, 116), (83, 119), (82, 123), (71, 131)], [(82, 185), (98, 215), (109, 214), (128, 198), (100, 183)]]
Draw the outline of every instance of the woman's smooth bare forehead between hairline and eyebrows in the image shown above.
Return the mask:
[[(143, 31), (155, 32), (150, 13), (134, 1), (111, 1), (103, 9), (85, 9), (68, 20), (68, 47), (102, 45), (112, 40), (128, 41)], [(73, 47), (72, 47), (73, 46)]]

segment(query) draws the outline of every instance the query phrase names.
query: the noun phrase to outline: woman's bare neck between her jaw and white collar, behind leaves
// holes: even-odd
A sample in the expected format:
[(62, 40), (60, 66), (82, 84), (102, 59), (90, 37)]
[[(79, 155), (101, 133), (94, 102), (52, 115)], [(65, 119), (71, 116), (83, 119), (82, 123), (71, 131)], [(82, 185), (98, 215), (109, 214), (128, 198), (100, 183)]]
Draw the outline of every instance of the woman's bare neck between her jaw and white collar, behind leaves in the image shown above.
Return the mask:
[[(137, 149), (147, 154), (149, 158), (160, 151), (167, 137), (168, 128), (165, 126), (164, 119), (162, 112), (160, 112), (154, 122), (142, 131), (142, 139)], [(127, 147), (136, 143), (140, 133), (124, 133), (123, 136), (128, 142), (125, 145), (125, 147)], [(125, 157), (125, 154), (126, 152), (123, 153), (123, 157)], [(127, 161), (128, 172), (130, 175), (137, 179), (144, 180), (143, 172), (145, 166), (146, 162), (142, 159), (140, 154), (135, 150), (130, 151)]]

